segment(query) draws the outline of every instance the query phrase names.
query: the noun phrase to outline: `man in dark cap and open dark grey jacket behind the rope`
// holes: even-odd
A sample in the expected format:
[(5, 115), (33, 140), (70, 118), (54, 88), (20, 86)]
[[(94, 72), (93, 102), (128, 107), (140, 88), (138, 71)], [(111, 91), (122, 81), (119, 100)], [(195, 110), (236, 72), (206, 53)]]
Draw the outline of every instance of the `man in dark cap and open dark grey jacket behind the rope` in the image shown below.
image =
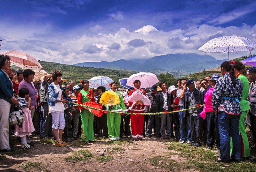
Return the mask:
[[(188, 86), (188, 91), (184, 95), (184, 109), (196, 107), (197, 105), (204, 104), (203, 93), (195, 89), (195, 81), (193, 79), (188, 79), (186, 82)], [(200, 112), (202, 112), (203, 107), (198, 107), (190, 110), (185, 110), (183, 116), (189, 116), (190, 130), (192, 143), (190, 146), (199, 147), (202, 146), (202, 121), (203, 118), (200, 117)]]

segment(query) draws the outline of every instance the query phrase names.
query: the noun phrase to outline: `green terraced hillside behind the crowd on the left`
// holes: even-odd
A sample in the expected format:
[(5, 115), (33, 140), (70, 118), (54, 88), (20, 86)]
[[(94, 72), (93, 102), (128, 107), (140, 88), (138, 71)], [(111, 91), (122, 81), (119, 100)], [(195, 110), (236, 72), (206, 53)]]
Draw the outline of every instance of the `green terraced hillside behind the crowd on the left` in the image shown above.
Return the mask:
[(62, 71), (62, 78), (67, 79), (68, 81), (74, 80), (75, 83), (79, 83), (82, 79), (91, 79), (94, 76), (108, 76), (109, 78), (113, 79), (117, 83), (119, 83), (118, 79), (129, 77), (134, 73), (138, 73), (138, 71), (116, 71), (111, 69), (103, 69), (103, 68), (92, 68), (92, 67), (80, 67), (80, 66), (73, 66), (68, 64), (60, 64), (60, 63), (53, 63), (53, 62), (45, 62), (45, 61), (38, 61), (43, 69), (48, 72), (52, 73), (53, 70), (58, 69)]

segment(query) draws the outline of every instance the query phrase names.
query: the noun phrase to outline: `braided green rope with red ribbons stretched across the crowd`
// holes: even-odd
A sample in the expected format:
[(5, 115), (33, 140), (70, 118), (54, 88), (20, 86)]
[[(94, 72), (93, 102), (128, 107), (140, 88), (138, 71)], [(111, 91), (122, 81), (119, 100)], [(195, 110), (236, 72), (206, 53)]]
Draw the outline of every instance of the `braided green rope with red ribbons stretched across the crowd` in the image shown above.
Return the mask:
[(197, 104), (195, 107), (192, 107), (192, 108), (188, 108), (188, 109), (180, 109), (180, 110), (176, 110), (176, 111), (170, 111), (168, 112), (167, 110), (164, 111), (164, 112), (157, 112), (157, 113), (132, 113), (132, 112), (113, 112), (111, 110), (102, 110), (102, 109), (98, 109), (98, 108), (93, 108), (93, 107), (90, 107), (90, 106), (86, 106), (86, 105), (82, 105), (82, 104), (78, 104), (78, 103), (75, 103), (75, 102), (72, 102), (72, 101), (68, 101), (70, 103), (73, 103), (75, 105), (78, 105), (78, 106), (82, 106), (84, 108), (89, 108), (89, 109), (95, 109), (95, 110), (100, 110), (100, 111), (103, 111), (103, 113), (107, 113), (107, 112), (110, 112), (110, 113), (120, 113), (120, 115), (124, 115), (124, 114), (127, 114), (127, 115), (162, 115), (162, 114), (172, 114), (172, 113), (176, 113), (176, 112), (181, 112), (181, 111), (185, 111), (185, 110), (190, 110), (190, 109), (195, 109), (195, 108), (199, 108), (199, 107), (202, 107), (204, 106), (201, 105), (201, 104)]

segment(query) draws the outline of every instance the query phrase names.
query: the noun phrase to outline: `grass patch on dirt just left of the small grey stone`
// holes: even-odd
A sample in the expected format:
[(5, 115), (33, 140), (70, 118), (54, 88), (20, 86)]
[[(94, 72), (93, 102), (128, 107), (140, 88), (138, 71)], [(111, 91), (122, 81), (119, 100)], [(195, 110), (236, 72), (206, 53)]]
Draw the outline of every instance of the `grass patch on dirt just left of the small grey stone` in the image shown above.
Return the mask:
[(76, 163), (77, 161), (87, 161), (93, 158), (93, 154), (88, 150), (79, 150), (72, 153), (71, 156), (64, 158), (66, 161)]

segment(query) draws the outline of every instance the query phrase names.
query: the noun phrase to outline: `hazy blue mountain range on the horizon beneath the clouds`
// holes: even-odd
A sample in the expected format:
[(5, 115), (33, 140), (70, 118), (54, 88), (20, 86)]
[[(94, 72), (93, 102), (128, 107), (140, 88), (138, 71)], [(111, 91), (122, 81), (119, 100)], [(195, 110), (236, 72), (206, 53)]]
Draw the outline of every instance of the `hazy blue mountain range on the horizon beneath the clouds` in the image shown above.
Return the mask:
[(187, 54), (167, 54), (155, 56), (147, 60), (133, 59), (133, 60), (117, 60), (113, 62), (84, 62), (74, 64), (76, 66), (96, 67), (96, 68), (124, 68), (128, 70), (145, 71), (152, 73), (179, 73), (188, 75), (190, 73), (203, 71), (204, 69), (212, 69), (219, 67), (225, 61), (216, 60), (216, 58), (209, 55), (198, 55), (195, 53)]

